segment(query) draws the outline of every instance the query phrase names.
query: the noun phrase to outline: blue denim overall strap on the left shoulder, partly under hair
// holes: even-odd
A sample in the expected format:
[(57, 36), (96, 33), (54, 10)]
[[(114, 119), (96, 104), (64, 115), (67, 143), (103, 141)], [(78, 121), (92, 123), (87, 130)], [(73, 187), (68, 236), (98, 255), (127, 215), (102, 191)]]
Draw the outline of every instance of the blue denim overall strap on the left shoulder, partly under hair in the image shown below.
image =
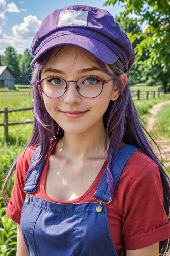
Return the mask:
[[(33, 164), (35, 164), (35, 162), (38, 160), (40, 151), (41, 151), (41, 146), (39, 145), (38, 148), (35, 150), (33, 157), (30, 161), (28, 172), (29, 172), (30, 168), (33, 166)], [(33, 170), (29, 172), (29, 174), (26, 178), (24, 192), (30, 192), (30, 193), (35, 192), (36, 187), (38, 186), (38, 179), (40, 177), (43, 165), (44, 165), (44, 160), (41, 161), (38, 165), (36, 165), (33, 168)]]

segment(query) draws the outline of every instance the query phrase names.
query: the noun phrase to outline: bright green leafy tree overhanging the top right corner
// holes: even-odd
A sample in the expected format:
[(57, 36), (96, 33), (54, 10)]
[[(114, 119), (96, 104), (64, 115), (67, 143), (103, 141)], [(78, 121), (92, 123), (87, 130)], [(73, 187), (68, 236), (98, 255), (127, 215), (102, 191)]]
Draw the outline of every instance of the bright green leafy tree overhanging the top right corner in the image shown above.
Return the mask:
[[(164, 91), (170, 90), (168, 80), (165, 80), (167, 72), (170, 70), (170, 26), (169, 0), (109, 0), (104, 5), (115, 5), (116, 3), (124, 3), (125, 10), (120, 17), (127, 17), (129, 14), (137, 16), (138, 24), (146, 26), (145, 31), (141, 33), (143, 37), (139, 44), (136, 44), (135, 52), (142, 56), (145, 50), (148, 55), (145, 65), (158, 65), (162, 68), (162, 76), (157, 74), (159, 81), (162, 81)], [(129, 33), (131, 42), (134, 42), (139, 35)], [(168, 87), (168, 88), (167, 88)]]

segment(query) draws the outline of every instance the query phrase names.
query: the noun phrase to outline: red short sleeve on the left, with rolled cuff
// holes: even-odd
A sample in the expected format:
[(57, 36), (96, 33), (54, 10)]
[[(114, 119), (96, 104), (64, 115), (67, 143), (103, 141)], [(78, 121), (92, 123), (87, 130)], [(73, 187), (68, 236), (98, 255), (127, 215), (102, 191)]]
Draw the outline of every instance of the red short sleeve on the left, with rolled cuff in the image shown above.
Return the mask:
[(10, 202), (6, 209), (6, 214), (18, 224), (20, 224), (21, 209), (26, 197), (26, 193), (23, 190), (25, 178), (34, 151), (35, 147), (25, 149), (18, 157), (14, 186), (11, 192)]

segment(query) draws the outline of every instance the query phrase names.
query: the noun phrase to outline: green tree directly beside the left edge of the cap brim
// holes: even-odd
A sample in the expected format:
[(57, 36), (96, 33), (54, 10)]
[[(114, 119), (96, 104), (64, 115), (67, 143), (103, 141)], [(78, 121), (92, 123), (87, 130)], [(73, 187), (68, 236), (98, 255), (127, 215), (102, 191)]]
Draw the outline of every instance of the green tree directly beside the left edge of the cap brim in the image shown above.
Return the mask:
[(23, 55), (18, 55), (19, 70), (21, 76), (21, 82), (24, 84), (28, 83), (28, 77), (31, 73), (30, 63), (32, 61), (31, 51), (29, 49), (24, 50)]

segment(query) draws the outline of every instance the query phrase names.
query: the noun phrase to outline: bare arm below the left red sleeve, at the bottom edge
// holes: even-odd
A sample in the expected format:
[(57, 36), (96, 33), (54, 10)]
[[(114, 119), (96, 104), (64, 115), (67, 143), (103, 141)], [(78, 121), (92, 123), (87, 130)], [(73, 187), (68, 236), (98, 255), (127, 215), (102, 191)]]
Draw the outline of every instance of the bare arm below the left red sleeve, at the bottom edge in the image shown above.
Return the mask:
[(16, 256), (29, 256), (27, 246), (24, 242), (21, 226), (17, 225), (17, 253)]

